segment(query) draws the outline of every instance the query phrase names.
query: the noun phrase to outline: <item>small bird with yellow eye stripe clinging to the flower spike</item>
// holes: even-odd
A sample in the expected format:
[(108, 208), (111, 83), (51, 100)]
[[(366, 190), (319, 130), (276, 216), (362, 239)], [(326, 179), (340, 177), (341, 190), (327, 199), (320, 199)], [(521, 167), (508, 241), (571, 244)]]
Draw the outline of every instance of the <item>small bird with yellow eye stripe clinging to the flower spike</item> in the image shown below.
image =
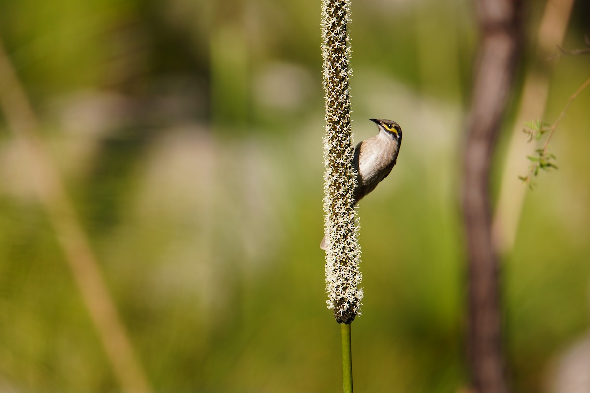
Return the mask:
[[(377, 187), (391, 173), (398, 160), (402, 144), (402, 128), (393, 120), (369, 119), (377, 124), (379, 132), (355, 147), (352, 165), (356, 169), (355, 204)], [(326, 250), (324, 235), (320, 248)]]

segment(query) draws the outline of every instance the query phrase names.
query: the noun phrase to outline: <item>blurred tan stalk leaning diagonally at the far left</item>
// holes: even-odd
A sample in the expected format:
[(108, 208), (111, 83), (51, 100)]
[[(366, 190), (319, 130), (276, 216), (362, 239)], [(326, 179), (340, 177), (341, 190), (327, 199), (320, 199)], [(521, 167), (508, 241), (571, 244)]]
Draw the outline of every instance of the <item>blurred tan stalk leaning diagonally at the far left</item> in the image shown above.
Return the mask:
[(122, 391), (151, 392), (60, 173), (38, 135), (41, 125), (1, 41), (0, 108), (23, 149), (23, 164), (30, 169), (28, 178), (47, 212)]

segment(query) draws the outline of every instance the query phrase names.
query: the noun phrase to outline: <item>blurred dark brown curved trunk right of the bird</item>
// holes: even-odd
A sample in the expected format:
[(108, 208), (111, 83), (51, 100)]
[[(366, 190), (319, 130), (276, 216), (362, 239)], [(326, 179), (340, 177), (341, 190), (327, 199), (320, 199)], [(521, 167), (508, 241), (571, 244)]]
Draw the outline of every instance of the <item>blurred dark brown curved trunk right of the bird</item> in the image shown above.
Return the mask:
[(490, 163), (520, 49), (520, 1), (476, 1), (481, 43), (467, 119), (463, 220), (468, 257), (468, 358), (478, 393), (505, 393), (499, 261), (491, 239)]

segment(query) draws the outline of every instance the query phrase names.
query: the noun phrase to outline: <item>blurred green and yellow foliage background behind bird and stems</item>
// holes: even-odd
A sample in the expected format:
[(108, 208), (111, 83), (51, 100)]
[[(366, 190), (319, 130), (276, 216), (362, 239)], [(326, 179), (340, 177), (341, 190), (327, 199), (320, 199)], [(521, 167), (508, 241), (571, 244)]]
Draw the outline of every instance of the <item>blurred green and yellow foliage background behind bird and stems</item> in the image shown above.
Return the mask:
[[(568, 49), (590, 33), (580, 3)], [(527, 1), (523, 10), (494, 199), (520, 87), (538, 66), (543, 8)], [(0, 9), (0, 37), (153, 389), (340, 391), (340, 333), (319, 249), (320, 2), (3, 0)], [(404, 130), (392, 175), (360, 204), (355, 388), (458, 391), (467, 382), (458, 189), (473, 4), (353, 2), (350, 35), (355, 140), (375, 133), (372, 117)], [(552, 64), (549, 123), (590, 76), (590, 57)], [(514, 391), (545, 391), (588, 335), (589, 105), (585, 91), (560, 123), (559, 170), (526, 193), (502, 259)], [(0, 391), (120, 391), (4, 120)], [(509, 173), (514, 183), (525, 174)]]

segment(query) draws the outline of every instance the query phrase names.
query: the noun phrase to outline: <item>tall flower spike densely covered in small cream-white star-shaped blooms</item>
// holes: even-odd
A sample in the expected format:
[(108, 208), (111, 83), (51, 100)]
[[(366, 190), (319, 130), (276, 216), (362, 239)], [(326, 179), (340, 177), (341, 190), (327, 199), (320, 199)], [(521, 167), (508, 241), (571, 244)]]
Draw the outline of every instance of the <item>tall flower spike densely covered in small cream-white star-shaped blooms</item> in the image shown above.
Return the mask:
[(346, 24), (350, 0), (322, 1), (323, 87), (326, 101), (324, 137), (324, 227), (328, 308), (336, 321), (350, 323), (363, 297), (358, 285), (360, 246), (354, 207), (356, 171), (352, 167), (352, 128), (348, 88), (349, 55)]

